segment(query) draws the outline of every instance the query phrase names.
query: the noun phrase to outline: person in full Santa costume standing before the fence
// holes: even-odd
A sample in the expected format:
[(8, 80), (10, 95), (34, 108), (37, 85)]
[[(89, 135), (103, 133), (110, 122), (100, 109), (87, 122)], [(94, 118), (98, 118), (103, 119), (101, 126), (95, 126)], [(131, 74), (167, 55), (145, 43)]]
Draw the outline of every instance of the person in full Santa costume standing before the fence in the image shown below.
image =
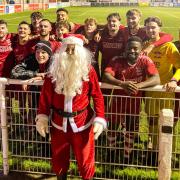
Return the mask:
[[(94, 139), (107, 123), (103, 96), (91, 61), (92, 54), (83, 47), (82, 36), (67, 35), (62, 48), (54, 55), (50, 75), (42, 87), (36, 128), (40, 135), (46, 136), (52, 108), (52, 166), (59, 180), (67, 179), (70, 147), (82, 178), (89, 180), (94, 175)], [(90, 106), (91, 97), (95, 113)]]

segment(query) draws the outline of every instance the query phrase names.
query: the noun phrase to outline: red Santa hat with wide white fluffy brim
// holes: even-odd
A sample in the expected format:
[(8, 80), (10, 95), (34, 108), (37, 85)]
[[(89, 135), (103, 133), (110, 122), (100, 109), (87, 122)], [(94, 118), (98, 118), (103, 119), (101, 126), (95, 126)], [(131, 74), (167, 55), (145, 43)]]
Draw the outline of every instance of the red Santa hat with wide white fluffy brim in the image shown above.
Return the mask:
[(81, 34), (64, 34), (62, 43), (83, 46), (83, 35), (81, 35)]

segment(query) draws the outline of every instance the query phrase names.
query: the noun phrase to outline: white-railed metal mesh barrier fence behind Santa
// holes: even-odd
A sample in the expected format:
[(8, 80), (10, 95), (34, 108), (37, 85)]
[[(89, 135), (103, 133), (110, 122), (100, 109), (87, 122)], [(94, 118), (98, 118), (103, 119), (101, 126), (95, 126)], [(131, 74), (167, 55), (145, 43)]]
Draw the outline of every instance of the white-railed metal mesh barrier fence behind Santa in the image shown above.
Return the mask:
[[(29, 85), (42, 85), (43, 82)], [(28, 84), (27, 81), (0, 79), (2, 169), (10, 171), (53, 174), (50, 166), (50, 142), (35, 129), (34, 118), (39, 92), (6, 88), (10, 84)], [(158, 178), (158, 115), (150, 110), (168, 108), (174, 111), (172, 147), (172, 177), (180, 171), (179, 99), (122, 96), (107, 84), (104, 92), (106, 118), (109, 128), (96, 141), (95, 179), (157, 179)], [(113, 89), (113, 94), (111, 92)], [(164, 93), (162, 86), (143, 91)], [(180, 92), (180, 88), (177, 88)], [(167, 96), (168, 97), (168, 96)], [(157, 106), (157, 104), (159, 106)], [(154, 105), (154, 106), (153, 106)], [(156, 105), (156, 106), (155, 106)], [(159, 107), (159, 109), (153, 109)], [(77, 164), (71, 154), (70, 177), (79, 177)]]

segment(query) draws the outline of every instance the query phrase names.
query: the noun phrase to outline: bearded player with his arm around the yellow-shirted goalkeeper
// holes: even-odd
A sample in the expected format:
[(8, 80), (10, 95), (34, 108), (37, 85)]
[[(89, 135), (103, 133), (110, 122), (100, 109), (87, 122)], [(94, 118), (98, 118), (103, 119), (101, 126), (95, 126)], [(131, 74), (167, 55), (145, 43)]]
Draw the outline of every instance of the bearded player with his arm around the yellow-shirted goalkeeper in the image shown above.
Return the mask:
[[(146, 35), (146, 28), (140, 25), (141, 20), (141, 12), (138, 9), (130, 9), (126, 13), (127, 19), (127, 27), (123, 30), (126, 41), (131, 36), (138, 36), (143, 41), (148, 39)], [(143, 52), (149, 53), (154, 47), (158, 47), (166, 42), (170, 42), (173, 40), (173, 37), (170, 34), (166, 34), (164, 32), (159, 32), (160, 39), (156, 42), (150, 44), (146, 49), (143, 49)]]

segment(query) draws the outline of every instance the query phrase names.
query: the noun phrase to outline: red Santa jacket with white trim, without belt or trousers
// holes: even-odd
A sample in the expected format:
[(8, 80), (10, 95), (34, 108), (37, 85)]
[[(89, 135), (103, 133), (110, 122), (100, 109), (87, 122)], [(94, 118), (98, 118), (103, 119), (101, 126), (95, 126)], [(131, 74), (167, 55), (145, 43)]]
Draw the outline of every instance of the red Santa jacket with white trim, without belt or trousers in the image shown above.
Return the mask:
[[(63, 109), (66, 112), (75, 112), (85, 109), (74, 118), (69, 118), (73, 132), (80, 132), (88, 128), (93, 122), (102, 123), (106, 128), (104, 119), (104, 100), (99, 87), (98, 78), (93, 67), (90, 68), (89, 81), (83, 81), (82, 93), (73, 98), (67, 98), (63, 94), (55, 92), (55, 83), (47, 77), (44, 81), (40, 100), (38, 116), (48, 117), (51, 107)], [(90, 107), (90, 98), (94, 102), (94, 111)], [(63, 118), (53, 111), (52, 125), (57, 129), (67, 132), (67, 118)]]

